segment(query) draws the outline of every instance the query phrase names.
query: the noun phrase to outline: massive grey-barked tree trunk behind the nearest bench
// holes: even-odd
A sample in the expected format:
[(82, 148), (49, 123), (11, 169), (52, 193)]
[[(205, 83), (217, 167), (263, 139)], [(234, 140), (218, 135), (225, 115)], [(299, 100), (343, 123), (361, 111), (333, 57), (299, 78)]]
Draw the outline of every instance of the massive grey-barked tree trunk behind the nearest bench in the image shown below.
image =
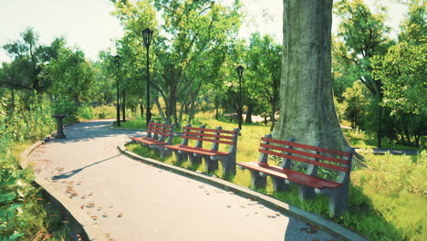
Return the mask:
[(342, 150), (331, 80), (332, 0), (284, 0), (280, 117), (275, 138)]

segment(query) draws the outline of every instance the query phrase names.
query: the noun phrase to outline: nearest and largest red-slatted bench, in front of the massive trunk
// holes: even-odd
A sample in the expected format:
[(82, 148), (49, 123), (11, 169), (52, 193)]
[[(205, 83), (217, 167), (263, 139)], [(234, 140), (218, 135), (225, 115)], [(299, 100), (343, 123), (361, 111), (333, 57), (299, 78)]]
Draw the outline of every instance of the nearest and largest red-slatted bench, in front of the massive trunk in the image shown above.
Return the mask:
[[(266, 186), (270, 176), (275, 191), (285, 191), (297, 184), (299, 198), (310, 199), (316, 194), (328, 194), (330, 215), (339, 215), (349, 203), (349, 173), (352, 148), (346, 152), (272, 139), (267, 134), (261, 139), (258, 162), (238, 162), (241, 169), (251, 173), (252, 188)], [(280, 164), (268, 160), (281, 159)]]

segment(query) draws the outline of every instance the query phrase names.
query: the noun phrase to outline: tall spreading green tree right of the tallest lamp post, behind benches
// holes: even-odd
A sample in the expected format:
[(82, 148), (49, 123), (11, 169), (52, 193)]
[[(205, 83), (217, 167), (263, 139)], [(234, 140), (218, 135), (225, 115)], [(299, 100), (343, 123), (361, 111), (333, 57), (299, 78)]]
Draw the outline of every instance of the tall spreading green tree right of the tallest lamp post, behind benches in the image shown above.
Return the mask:
[[(200, 84), (190, 76), (191, 69), (200, 72), (215, 72), (205, 68), (205, 61), (217, 51), (223, 51), (240, 26), (239, 4), (232, 8), (213, 1), (155, 1), (155, 7), (162, 11), (165, 23), (164, 37), (158, 38), (156, 66), (157, 88), (166, 104), (166, 119), (181, 123), (177, 103), (185, 101), (190, 92)], [(204, 63), (203, 66), (200, 63)], [(218, 62), (215, 62), (218, 64)], [(209, 65), (211, 66), (211, 65)], [(211, 74), (205, 73), (205, 76)], [(197, 91), (198, 92), (198, 91)]]

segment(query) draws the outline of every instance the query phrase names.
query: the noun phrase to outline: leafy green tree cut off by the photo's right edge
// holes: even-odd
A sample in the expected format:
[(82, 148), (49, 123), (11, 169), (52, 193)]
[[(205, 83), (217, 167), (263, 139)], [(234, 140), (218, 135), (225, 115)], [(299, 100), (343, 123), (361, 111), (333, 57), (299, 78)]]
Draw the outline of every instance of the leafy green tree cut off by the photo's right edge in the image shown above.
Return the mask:
[(411, 143), (413, 137), (413, 143), (419, 146), (427, 130), (426, 4), (411, 1), (409, 6), (399, 44), (390, 47), (386, 55), (372, 59), (372, 75), (383, 80), (382, 105), (391, 110), (401, 140)]

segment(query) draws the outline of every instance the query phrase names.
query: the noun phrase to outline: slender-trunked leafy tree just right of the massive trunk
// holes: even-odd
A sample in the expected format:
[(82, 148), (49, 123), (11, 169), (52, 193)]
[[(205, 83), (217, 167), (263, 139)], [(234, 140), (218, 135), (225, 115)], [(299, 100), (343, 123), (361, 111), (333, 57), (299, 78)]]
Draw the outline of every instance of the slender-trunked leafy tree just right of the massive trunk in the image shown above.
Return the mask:
[(390, 27), (384, 25), (385, 9), (374, 15), (363, 3), (363, 0), (340, 0), (337, 3), (337, 15), (341, 18), (338, 26), (338, 37), (343, 42), (338, 43), (335, 55), (347, 63), (351, 76), (358, 76), (359, 80), (370, 89), (376, 99), (378, 108), (378, 146), (381, 146), (382, 82), (372, 77), (371, 58), (384, 55), (393, 42), (387, 37)]

